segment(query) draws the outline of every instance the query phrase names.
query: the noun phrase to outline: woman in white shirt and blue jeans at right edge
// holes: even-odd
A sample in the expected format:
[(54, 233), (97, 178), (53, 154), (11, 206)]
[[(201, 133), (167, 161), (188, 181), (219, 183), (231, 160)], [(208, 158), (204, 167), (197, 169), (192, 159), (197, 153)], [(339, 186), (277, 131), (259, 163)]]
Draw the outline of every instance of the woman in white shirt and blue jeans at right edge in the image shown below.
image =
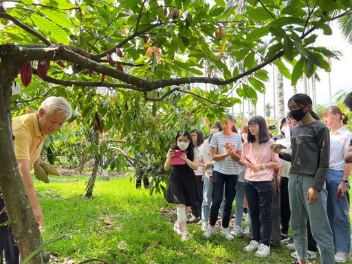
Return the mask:
[(328, 107), (322, 112), (325, 124), (330, 131), (330, 164), (327, 173), (327, 215), (333, 243), (336, 247), (335, 262), (349, 259), (351, 249), (351, 219), (349, 216), (349, 175), (352, 164), (344, 162), (344, 155), (352, 140), (347, 130), (349, 117), (338, 107)]

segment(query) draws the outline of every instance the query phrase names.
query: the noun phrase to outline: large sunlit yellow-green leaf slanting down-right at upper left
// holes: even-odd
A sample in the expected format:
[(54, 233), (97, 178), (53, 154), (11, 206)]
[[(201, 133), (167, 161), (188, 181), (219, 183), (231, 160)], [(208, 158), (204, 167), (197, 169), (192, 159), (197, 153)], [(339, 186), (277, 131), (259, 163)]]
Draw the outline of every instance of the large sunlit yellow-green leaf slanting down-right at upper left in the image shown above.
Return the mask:
[(33, 23), (39, 28), (39, 30), (47, 35), (50, 35), (50, 39), (54, 40), (54, 42), (69, 45), (67, 33), (61, 28), (58, 28), (58, 26), (52, 23), (52, 21), (43, 19), (43, 17), (40, 17), (37, 14), (32, 14), (31, 19)]

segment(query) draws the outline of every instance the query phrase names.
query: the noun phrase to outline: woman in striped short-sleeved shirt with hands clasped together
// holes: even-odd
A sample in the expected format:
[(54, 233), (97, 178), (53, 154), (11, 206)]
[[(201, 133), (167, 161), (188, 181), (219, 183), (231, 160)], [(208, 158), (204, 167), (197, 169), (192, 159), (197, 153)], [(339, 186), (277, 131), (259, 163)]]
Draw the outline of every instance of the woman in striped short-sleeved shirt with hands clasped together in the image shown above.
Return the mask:
[[(239, 177), (239, 162), (242, 155), (243, 144), (241, 136), (236, 131), (236, 123), (232, 115), (226, 115), (223, 120), (223, 131), (216, 133), (210, 142), (212, 159), (215, 162), (212, 181), (212, 207), (210, 209), (210, 226), (204, 232), (207, 238), (215, 233), (215, 223), (219, 214), (219, 208), (225, 192), (225, 208), (222, 216), (222, 228), (220, 234), (225, 239), (232, 240), (228, 225), (230, 223), (232, 203), (236, 195), (237, 178)], [(225, 186), (225, 191), (224, 191)]]

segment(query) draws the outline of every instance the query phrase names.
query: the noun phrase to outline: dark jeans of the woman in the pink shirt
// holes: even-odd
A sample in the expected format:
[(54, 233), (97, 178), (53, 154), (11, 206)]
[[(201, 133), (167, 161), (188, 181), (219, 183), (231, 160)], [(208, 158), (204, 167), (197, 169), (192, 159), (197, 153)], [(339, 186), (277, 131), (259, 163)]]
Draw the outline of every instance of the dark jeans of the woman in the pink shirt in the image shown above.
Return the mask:
[[(270, 245), (272, 233), (272, 181), (245, 180), (245, 195), (252, 219), (253, 240)], [(261, 239), (260, 215), (263, 219), (263, 238)]]

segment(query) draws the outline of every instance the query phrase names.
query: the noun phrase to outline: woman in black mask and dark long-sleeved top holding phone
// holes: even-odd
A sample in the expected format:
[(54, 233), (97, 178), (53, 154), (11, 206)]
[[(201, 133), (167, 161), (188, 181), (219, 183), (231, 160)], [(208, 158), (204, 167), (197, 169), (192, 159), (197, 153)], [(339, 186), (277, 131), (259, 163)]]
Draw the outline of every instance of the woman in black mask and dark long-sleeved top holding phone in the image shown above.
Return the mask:
[(325, 180), (329, 170), (329, 129), (317, 120), (311, 110), (312, 100), (307, 94), (296, 94), (289, 99), (292, 117), (300, 122), (291, 130), (292, 153), (271, 145), (272, 151), (291, 162), (289, 170), (289, 206), (291, 230), (298, 261), (305, 264), (307, 254), (307, 219), (311, 233), (320, 248), (321, 263), (334, 263), (333, 234), (327, 217)]

